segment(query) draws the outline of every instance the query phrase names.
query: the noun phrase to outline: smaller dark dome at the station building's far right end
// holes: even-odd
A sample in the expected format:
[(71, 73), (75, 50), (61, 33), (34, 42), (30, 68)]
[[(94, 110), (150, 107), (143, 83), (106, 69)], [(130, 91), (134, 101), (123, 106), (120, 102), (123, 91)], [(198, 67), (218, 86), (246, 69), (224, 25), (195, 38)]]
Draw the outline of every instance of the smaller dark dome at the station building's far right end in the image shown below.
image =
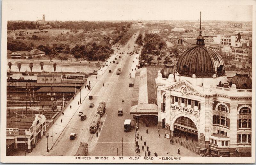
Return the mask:
[(252, 89), (252, 79), (248, 74), (238, 74), (231, 79), (230, 85), (236, 84), (236, 89)]

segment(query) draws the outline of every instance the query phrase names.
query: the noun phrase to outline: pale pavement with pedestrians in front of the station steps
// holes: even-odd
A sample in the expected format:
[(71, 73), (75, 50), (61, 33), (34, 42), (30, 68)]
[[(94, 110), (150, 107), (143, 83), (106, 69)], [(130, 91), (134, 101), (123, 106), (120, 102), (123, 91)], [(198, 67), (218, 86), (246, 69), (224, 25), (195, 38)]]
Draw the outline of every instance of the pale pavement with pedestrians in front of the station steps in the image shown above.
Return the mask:
[[(156, 126), (156, 119), (153, 116), (141, 116), (139, 120), (139, 140), (138, 145), (140, 146), (140, 153), (138, 155), (144, 156), (145, 152), (148, 152), (146, 147), (149, 147), (149, 151), (151, 156), (154, 156), (154, 153), (157, 153), (158, 156), (200, 156), (192, 151), (188, 150), (187, 148), (176, 144), (170, 144), (170, 139), (164, 138), (165, 130), (160, 129), (159, 134), (160, 138), (158, 138), (158, 130)], [(148, 127), (146, 127), (146, 123), (148, 123)], [(148, 129), (148, 134), (147, 134)], [(135, 130), (133, 131), (134, 138), (135, 138)], [(142, 137), (142, 140), (140, 140)], [(144, 146), (144, 151), (142, 151), (142, 145), (144, 145), (144, 141), (146, 141), (146, 146)], [(161, 147), (159, 147), (161, 146)], [(134, 152), (136, 154), (136, 146), (134, 144)], [(178, 153), (178, 148), (180, 148), (180, 155)], [(167, 154), (168, 153), (168, 154)]]

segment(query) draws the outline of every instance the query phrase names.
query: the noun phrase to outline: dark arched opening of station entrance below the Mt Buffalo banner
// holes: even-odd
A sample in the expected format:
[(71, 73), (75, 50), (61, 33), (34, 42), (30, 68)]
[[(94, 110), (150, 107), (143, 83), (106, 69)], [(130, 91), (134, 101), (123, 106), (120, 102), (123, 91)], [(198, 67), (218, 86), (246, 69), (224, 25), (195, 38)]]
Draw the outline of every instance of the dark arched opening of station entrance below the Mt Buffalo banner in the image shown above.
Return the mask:
[(198, 141), (198, 133), (195, 123), (185, 116), (177, 118), (174, 122), (174, 136)]

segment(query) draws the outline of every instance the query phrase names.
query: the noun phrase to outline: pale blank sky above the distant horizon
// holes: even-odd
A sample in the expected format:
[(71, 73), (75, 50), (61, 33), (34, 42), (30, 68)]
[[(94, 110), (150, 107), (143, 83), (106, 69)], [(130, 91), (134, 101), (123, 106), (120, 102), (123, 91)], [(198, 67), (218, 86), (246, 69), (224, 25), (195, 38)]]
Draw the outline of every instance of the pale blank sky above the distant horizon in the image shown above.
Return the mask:
[(202, 20), (252, 21), (250, 4), (251, 0), (9, 0), (3, 15), (30, 21), (42, 19), (42, 14), (46, 21), (198, 20), (201, 11)]

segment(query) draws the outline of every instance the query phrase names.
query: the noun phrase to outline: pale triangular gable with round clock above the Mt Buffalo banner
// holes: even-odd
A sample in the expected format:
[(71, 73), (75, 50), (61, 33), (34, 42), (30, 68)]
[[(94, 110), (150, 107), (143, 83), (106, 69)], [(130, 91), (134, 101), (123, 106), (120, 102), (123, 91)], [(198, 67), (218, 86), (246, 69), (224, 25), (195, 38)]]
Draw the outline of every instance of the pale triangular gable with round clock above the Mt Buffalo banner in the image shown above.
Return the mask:
[(172, 84), (172, 85), (166, 87), (165, 89), (171, 90), (171, 91), (179, 91), (179, 92), (183, 93), (184, 95), (186, 95), (188, 93), (202, 95), (201, 92), (198, 91), (197, 89), (195, 89), (187, 80), (182, 80), (178, 83)]

